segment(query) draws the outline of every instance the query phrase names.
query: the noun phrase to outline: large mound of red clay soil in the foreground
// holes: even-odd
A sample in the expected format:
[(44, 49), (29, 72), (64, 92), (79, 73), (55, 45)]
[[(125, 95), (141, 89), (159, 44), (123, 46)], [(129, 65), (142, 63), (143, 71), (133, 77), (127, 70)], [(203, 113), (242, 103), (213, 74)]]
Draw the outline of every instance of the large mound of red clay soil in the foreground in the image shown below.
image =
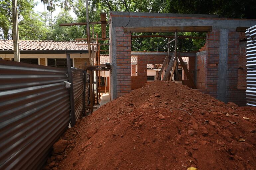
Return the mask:
[(79, 120), (61, 138), (69, 144), (64, 160), (48, 163), (54, 170), (255, 170), (255, 113), (157, 81)]

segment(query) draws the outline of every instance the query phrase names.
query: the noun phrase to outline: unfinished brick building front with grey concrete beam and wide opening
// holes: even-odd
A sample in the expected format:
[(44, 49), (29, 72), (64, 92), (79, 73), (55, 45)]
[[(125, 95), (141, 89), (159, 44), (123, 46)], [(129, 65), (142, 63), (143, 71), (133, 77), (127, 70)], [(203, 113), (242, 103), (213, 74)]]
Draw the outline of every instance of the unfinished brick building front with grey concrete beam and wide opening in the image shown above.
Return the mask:
[[(132, 12), (111, 12), (110, 18), (111, 99), (132, 90), (133, 32), (205, 31), (208, 32), (205, 46), (194, 55), (193, 78), (196, 87), (221, 101), (246, 104), (246, 57), (244, 35), (241, 32), (256, 25), (256, 20), (216, 18), (215, 15)], [(155, 60), (151, 56), (146, 58)], [(140, 60), (138, 57), (138, 63)]]

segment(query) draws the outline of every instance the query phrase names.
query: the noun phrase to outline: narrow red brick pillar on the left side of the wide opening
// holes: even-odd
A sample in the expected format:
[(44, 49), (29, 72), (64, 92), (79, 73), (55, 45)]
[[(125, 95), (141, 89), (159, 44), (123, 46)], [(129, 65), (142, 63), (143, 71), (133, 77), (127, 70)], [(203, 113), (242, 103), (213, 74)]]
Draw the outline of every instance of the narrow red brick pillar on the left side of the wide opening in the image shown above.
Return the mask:
[(129, 93), (131, 86), (131, 33), (116, 27), (116, 96)]

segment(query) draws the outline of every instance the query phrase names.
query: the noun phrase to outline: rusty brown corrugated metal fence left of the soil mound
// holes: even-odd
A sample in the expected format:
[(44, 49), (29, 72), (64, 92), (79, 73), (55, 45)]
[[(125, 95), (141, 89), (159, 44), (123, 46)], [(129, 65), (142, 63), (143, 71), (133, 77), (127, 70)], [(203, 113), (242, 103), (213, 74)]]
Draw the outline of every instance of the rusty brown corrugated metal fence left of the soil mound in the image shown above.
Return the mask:
[[(76, 120), (83, 71), (73, 69)], [(70, 122), (67, 69), (0, 60), (0, 169), (39, 169)]]

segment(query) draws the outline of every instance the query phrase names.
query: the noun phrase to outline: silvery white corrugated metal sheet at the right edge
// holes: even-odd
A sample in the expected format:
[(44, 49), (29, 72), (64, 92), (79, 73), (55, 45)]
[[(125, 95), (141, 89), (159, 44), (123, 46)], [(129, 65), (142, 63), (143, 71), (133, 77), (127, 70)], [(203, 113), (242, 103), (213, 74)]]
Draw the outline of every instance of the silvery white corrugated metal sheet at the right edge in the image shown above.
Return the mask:
[(246, 100), (248, 106), (256, 106), (256, 26), (248, 28), (245, 34), (247, 38)]

